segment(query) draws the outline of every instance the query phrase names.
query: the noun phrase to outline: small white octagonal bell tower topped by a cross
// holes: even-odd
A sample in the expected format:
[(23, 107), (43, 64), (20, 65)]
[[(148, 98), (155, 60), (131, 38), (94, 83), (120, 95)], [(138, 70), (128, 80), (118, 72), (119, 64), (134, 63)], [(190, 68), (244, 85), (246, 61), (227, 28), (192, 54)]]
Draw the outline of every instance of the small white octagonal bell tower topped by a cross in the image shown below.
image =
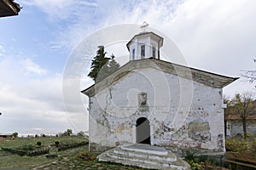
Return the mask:
[(160, 59), (160, 48), (163, 46), (164, 38), (152, 31), (147, 31), (148, 24), (143, 23), (143, 31), (131, 38), (126, 44), (130, 52), (130, 60), (155, 58)]

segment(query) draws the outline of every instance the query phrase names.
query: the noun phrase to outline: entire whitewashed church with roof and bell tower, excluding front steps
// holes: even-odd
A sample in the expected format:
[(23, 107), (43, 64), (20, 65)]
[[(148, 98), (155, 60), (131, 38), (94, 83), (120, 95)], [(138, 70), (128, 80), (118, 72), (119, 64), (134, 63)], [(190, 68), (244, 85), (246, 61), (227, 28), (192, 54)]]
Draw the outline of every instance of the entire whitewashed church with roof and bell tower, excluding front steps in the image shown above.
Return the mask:
[(225, 150), (223, 88), (236, 78), (160, 60), (162, 46), (154, 32), (132, 37), (130, 61), (82, 91), (90, 151), (125, 143)]

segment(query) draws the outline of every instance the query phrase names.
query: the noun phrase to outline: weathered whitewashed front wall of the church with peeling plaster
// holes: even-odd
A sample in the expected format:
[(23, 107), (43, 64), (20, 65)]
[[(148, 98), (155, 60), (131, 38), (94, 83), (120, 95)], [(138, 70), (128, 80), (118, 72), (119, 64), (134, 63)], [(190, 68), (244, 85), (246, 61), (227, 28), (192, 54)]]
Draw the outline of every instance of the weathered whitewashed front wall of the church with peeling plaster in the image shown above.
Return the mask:
[[(138, 104), (142, 92), (147, 94), (145, 107)], [(222, 103), (220, 88), (152, 68), (134, 70), (90, 98), (90, 143), (113, 147), (135, 142), (136, 121), (147, 117), (151, 144), (222, 151)]]

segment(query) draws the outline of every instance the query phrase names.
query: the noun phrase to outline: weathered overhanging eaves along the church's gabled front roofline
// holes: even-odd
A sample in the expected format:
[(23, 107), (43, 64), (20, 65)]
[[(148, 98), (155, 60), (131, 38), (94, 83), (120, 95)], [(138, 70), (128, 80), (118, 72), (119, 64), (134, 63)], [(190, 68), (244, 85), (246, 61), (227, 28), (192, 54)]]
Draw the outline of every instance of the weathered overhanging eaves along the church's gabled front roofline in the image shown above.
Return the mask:
[[(173, 64), (171, 62), (163, 61), (160, 59), (149, 59), (154, 62), (154, 65), (148, 63), (148, 59), (131, 60), (125, 65), (121, 66), (117, 71), (113, 72), (113, 74), (109, 77), (106, 77), (100, 82), (96, 82), (94, 85), (84, 89), (81, 92), (83, 94), (88, 95), (89, 97), (93, 96), (96, 94), (96, 92), (99, 92), (103, 88), (108, 87), (109, 84), (116, 82), (117, 80), (119, 80), (119, 78), (124, 77), (127, 73), (131, 72), (132, 70), (142, 69), (145, 67), (152, 67), (154, 69), (165, 71), (167, 73), (177, 75), (179, 77), (192, 79), (195, 82), (200, 82), (213, 88), (224, 88), (224, 86), (238, 79), (237, 77), (226, 77), (212, 72), (190, 68), (184, 65)], [(187, 71), (187, 73), (181, 75), (178, 74), (178, 72), (184, 71)]]

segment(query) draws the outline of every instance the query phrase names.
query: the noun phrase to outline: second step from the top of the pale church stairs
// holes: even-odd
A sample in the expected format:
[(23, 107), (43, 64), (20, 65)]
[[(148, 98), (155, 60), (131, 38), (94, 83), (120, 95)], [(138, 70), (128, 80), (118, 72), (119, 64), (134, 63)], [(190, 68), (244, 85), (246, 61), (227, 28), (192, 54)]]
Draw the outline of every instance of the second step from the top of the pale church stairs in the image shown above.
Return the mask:
[(175, 156), (171, 151), (167, 151), (167, 155), (160, 156), (155, 154), (148, 154), (140, 151), (127, 151), (123, 150), (122, 147), (117, 147), (113, 149), (113, 153), (119, 154), (122, 156), (129, 156), (129, 157), (142, 157), (148, 160), (153, 161), (177, 161), (177, 156)]

